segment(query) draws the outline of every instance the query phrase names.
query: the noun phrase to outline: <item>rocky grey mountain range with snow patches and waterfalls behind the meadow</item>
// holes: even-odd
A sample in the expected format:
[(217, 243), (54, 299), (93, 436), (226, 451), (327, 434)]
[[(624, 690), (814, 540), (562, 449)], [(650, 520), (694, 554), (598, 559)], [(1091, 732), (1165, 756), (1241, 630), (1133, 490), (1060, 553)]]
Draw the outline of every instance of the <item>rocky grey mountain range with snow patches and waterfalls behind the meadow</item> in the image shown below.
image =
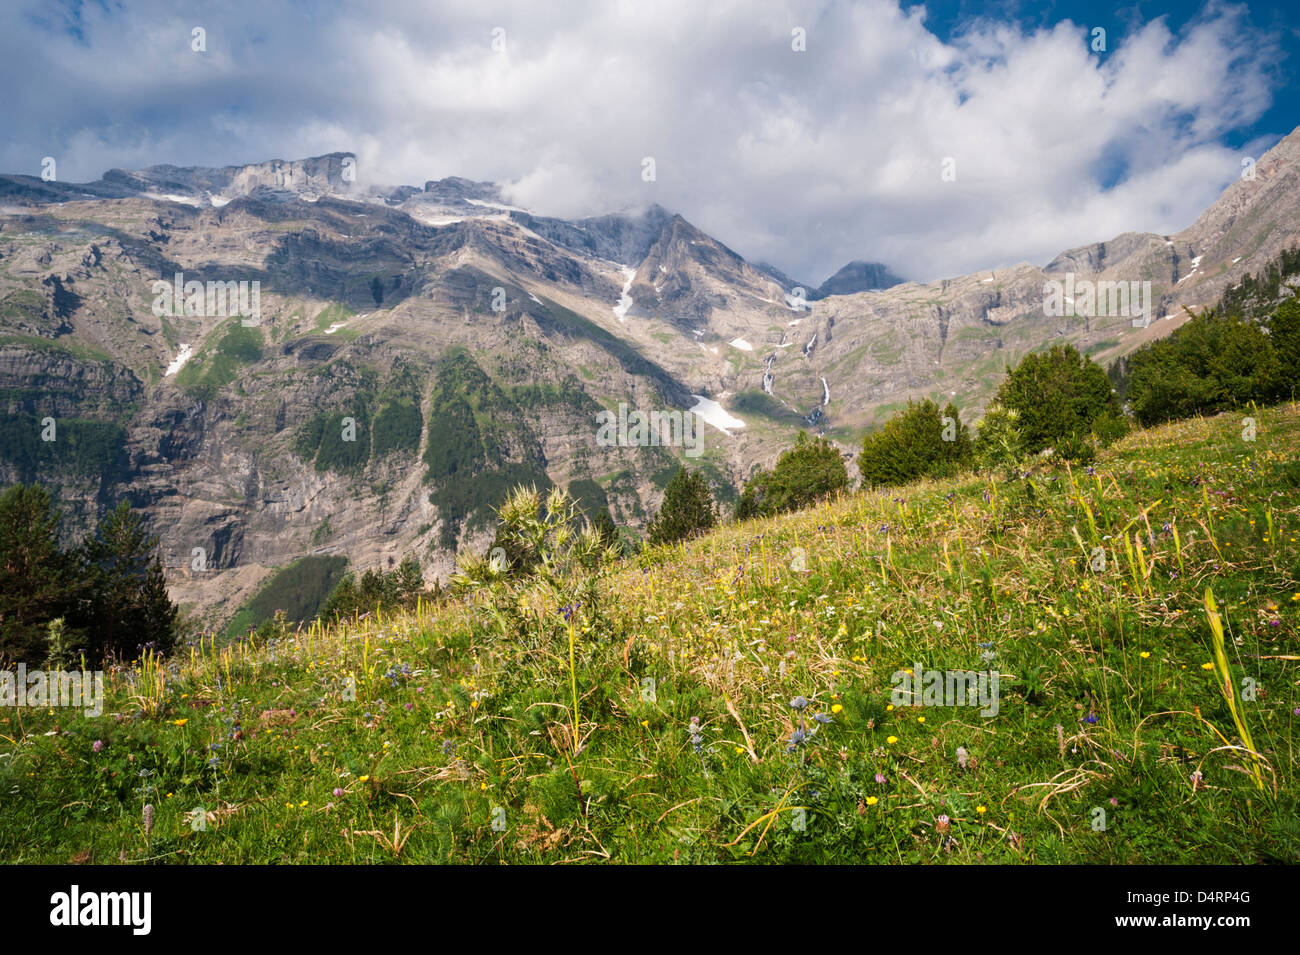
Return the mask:
[[(1173, 236), (884, 291), (844, 291), (893, 278), (852, 264), (809, 300), (659, 207), (566, 222), (491, 183), (359, 185), (343, 153), (0, 177), (0, 482), (55, 486), (79, 530), (130, 498), (212, 620), (303, 555), (445, 577), (516, 482), (644, 526), (685, 448), (604, 446), (601, 411), (701, 409), (718, 489), (800, 426), (848, 450), (913, 396), (972, 418), (1026, 352), (1106, 360), (1290, 247), (1297, 148)], [(1156, 321), (1049, 314), (1071, 275), (1149, 281)]]

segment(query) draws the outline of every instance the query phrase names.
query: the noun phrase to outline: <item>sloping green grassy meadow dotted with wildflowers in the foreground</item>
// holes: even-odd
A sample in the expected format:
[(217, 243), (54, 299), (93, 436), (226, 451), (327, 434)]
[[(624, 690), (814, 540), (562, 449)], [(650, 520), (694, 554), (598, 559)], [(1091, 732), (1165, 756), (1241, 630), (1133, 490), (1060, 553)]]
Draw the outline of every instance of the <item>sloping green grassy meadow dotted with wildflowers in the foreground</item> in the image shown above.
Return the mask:
[[(1136, 431), (1095, 474), (728, 525), (585, 592), (521, 583), (517, 625), (467, 595), (116, 670), (101, 716), (4, 711), (0, 854), (1295, 863), (1300, 405), (1256, 414), (1253, 443), (1240, 417)], [(914, 664), (996, 668), (997, 715), (892, 708)]]

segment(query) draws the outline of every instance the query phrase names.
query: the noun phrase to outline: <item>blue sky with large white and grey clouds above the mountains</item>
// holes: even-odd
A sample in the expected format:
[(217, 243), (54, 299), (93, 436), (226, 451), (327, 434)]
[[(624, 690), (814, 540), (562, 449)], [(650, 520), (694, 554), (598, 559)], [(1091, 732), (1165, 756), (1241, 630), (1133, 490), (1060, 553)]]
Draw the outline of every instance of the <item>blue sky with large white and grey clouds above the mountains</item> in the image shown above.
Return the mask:
[(1190, 225), (1300, 125), (1295, 9), (9, 0), (0, 170), (346, 149), (363, 182), (493, 179), (546, 214), (658, 201), (811, 283), (933, 279)]

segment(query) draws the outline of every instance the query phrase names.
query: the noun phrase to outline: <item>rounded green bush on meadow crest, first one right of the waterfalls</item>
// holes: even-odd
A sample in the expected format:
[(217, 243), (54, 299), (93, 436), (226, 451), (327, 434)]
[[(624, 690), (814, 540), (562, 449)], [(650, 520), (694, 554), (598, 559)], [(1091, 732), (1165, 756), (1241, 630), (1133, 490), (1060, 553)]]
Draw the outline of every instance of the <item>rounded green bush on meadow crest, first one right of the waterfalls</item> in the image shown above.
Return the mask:
[(956, 405), (949, 401), (940, 412), (927, 398), (920, 403), (907, 401), (884, 427), (863, 439), (858, 470), (863, 485), (885, 487), (953, 474), (970, 460), (970, 430)]

